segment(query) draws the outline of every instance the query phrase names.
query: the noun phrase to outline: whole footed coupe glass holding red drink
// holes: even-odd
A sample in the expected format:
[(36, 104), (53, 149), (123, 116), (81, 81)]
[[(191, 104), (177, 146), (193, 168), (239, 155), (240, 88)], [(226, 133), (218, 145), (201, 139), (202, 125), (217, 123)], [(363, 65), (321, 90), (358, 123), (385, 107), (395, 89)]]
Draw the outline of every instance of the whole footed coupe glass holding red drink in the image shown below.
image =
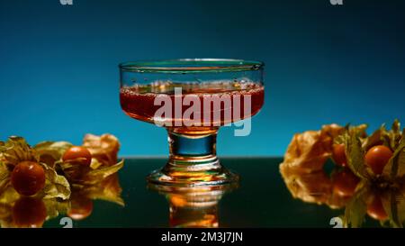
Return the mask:
[[(261, 109), (263, 68), (262, 62), (242, 59), (121, 63), (122, 110), (168, 132), (169, 159), (148, 181), (178, 187), (238, 181), (238, 175), (220, 165), (217, 132), (220, 126), (247, 122)], [(240, 125), (236, 135), (248, 134), (239, 130)]]

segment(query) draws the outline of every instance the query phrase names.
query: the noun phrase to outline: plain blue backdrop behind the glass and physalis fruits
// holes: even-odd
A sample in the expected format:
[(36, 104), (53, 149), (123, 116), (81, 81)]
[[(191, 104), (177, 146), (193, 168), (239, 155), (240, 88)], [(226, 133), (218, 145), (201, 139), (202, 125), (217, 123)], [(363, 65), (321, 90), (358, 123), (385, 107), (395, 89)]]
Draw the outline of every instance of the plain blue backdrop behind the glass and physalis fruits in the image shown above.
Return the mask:
[(0, 1), (0, 139), (76, 144), (111, 132), (122, 155), (166, 155), (166, 131), (121, 112), (121, 61), (266, 62), (266, 105), (220, 155), (282, 155), (326, 123), (404, 119), (405, 1)]

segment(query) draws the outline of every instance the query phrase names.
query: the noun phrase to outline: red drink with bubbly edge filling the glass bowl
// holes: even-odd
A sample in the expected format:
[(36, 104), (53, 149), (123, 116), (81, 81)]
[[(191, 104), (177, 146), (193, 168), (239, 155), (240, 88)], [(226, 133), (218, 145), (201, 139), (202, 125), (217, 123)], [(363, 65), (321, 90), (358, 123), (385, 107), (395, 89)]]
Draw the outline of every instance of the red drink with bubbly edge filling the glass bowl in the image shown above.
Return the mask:
[[(121, 87), (120, 100), (122, 110), (132, 118), (148, 123), (163, 122), (172, 127), (201, 129), (237, 122), (257, 114), (264, 104), (264, 87), (257, 83), (235, 81), (155, 82)], [(167, 102), (170, 105), (166, 105)], [(162, 120), (157, 117), (157, 112), (159, 108), (162, 111), (163, 105), (170, 110), (166, 111), (168, 115), (165, 114)]]

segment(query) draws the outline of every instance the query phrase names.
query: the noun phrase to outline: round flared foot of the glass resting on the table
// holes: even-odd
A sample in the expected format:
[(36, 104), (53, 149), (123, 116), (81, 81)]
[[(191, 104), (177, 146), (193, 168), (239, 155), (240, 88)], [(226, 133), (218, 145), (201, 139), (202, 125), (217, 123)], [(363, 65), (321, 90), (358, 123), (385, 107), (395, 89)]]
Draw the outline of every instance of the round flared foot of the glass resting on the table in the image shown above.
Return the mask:
[(239, 176), (220, 165), (216, 159), (210, 163), (169, 161), (163, 169), (148, 175), (148, 182), (160, 186), (199, 187), (219, 186), (238, 182)]

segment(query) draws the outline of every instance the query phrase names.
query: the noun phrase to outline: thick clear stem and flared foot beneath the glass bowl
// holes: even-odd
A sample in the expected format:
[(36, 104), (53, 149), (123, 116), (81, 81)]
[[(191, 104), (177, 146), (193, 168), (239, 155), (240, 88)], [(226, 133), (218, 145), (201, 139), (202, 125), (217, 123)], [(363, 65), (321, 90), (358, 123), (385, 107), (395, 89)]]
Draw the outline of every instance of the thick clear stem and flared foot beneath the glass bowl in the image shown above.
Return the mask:
[(167, 128), (170, 156), (163, 169), (148, 176), (152, 183), (173, 186), (216, 186), (238, 181), (216, 155), (218, 128), (207, 131)]

